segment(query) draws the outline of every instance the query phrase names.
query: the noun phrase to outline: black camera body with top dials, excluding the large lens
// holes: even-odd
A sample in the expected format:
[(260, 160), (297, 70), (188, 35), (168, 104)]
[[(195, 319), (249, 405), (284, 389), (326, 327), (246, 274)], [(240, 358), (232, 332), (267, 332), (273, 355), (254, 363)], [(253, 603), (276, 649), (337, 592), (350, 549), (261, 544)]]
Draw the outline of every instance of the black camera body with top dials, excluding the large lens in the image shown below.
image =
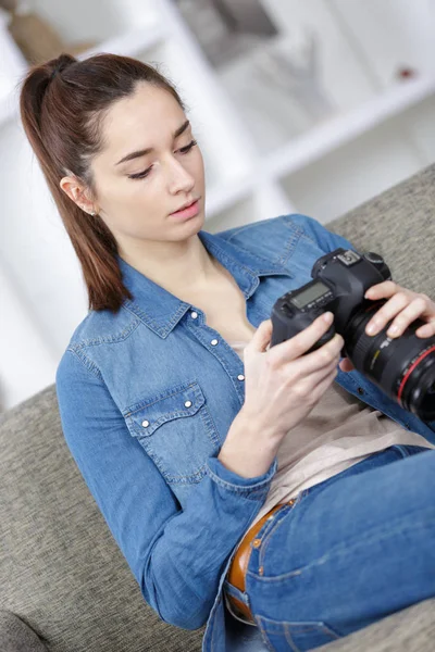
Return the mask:
[[(360, 254), (339, 247), (314, 263), (311, 277), (313, 280), (283, 294), (275, 302), (271, 317), (271, 347), (294, 337), (327, 311), (334, 313), (334, 322), (307, 353), (325, 344), (336, 331), (345, 337), (352, 316), (364, 311), (365, 305), (373, 306), (373, 301), (364, 299), (365, 291), (373, 285), (389, 280), (391, 275), (377, 253)], [(341, 355), (347, 355), (346, 341)]]

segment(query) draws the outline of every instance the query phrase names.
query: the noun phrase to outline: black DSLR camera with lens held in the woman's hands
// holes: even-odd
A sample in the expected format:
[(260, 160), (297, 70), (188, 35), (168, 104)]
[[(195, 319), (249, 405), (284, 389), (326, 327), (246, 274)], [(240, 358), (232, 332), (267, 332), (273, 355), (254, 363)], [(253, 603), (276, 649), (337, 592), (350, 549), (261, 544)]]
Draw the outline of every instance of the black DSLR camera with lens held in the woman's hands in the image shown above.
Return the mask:
[(420, 338), (415, 330), (425, 324), (415, 319), (400, 337), (386, 335), (393, 319), (374, 336), (365, 334), (372, 315), (386, 299), (370, 300), (365, 291), (391, 279), (384, 259), (372, 251), (360, 254), (341, 247), (322, 255), (311, 269), (313, 280), (279, 297), (272, 309), (271, 347), (294, 337), (322, 313), (331, 311), (334, 322), (306, 354), (315, 351), (335, 333), (345, 344), (341, 355), (389, 398), (422, 421), (435, 418), (435, 336)]

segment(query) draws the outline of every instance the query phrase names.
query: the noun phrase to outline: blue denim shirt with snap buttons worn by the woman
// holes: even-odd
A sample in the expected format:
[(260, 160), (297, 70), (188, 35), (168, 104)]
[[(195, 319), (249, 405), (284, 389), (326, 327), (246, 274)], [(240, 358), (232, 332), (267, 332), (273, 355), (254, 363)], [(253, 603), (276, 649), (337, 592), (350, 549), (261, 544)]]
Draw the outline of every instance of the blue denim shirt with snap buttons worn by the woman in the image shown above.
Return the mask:
[[(256, 328), (278, 297), (311, 280), (318, 258), (355, 249), (299, 214), (198, 236), (237, 281)], [(259, 629), (231, 616), (223, 598), (236, 546), (277, 469), (275, 456), (266, 473), (245, 478), (217, 460), (245, 400), (244, 363), (200, 308), (117, 260), (134, 299), (116, 314), (89, 311), (57, 369), (66, 443), (160, 618), (207, 625), (207, 652), (265, 651)], [(334, 381), (435, 443), (435, 422), (423, 423), (358, 371), (338, 369)]]

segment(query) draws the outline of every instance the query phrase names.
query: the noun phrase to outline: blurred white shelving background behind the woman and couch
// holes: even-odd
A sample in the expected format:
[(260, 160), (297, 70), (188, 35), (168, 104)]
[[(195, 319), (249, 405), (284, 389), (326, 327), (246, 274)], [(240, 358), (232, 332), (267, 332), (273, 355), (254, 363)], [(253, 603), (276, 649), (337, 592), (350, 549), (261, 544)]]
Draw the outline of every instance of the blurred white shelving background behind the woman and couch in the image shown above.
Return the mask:
[(17, 113), (28, 66), (114, 52), (170, 77), (204, 158), (206, 230), (327, 224), (435, 161), (434, 4), (0, 0), (0, 412), (54, 381), (87, 313)]

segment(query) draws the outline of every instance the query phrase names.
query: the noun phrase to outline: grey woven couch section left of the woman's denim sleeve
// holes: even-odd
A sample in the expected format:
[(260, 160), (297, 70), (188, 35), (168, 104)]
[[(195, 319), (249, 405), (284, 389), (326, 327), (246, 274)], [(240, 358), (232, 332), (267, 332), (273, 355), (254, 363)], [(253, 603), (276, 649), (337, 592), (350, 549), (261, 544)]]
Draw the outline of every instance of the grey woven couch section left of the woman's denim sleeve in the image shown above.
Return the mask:
[(0, 417), (0, 609), (52, 652), (199, 651), (144, 601), (63, 438), (54, 385)]

